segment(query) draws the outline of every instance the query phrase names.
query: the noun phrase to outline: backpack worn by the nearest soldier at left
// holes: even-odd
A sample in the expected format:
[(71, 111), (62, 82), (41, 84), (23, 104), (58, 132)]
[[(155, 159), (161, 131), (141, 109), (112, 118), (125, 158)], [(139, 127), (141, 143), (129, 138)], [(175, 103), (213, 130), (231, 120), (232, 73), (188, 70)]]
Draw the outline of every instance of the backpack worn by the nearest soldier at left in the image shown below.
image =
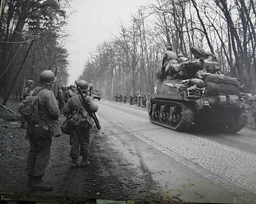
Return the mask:
[(38, 124), (40, 121), (39, 116), (39, 97), (36, 96), (39, 91), (45, 89), (44, 87), (40, 87), (35, 89), (32, 95), (27, 96), (25, 100), (23, 100), (19, 104), (19, 113), (25, 116), (25, 120), (30, 124)]

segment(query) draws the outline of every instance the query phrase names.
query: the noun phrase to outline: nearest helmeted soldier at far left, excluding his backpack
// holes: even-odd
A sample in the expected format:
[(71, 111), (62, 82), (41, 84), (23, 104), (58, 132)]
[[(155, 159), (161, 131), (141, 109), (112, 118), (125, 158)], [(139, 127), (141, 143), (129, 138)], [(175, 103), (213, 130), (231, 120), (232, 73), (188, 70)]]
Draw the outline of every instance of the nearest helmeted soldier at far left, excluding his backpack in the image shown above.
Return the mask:
[(50, 70), (40, 74), (39, 86), (31, 94), (39, 97), (39, 124), (28, 124), (28, 140), (30, 149), (27, 160), (27, 186), (35, 191), (49, 191), (52, 186), (42, 181), (45, 169), (49, 163), (52, 145), (52, 132), (49, 128), (50, 121), (58, 120), (60, 110), (57, 100), (51, 90), (55, 75)]

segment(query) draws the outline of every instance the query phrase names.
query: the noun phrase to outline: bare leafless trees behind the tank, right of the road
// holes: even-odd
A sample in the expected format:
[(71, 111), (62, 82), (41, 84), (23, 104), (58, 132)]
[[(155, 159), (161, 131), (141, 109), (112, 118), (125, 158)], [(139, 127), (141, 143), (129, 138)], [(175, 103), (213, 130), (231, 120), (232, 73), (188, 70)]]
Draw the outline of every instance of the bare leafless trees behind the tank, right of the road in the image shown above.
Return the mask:
[(217, 56), (225, 75), (256, 94), (255, 0), (157, 0), (119, 24), (119, 34), (91, 54), (81, 79), (103, 97), (115, 91), (150, 93), (167, 46), (192, 58), (191, 47)]

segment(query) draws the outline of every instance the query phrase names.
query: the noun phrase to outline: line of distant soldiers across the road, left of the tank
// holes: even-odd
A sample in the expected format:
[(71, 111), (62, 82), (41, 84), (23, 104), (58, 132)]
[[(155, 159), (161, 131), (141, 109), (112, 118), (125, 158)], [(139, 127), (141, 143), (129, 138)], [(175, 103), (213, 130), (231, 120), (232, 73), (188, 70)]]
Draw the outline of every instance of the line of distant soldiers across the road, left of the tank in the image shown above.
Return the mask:
[[(129, 95), (129, 102), (130, 105), (136, 104), (138, 106), (141, 107), (146, 107), (147, 106), (147, 101), (149, 101), (149, 96), (150, 94), (148, 94), (148, 96), (146, 94), (135, 92), (133, 93), (132, 91), (130, 92)], [(128, 97), (126, 95), (126, 92), (122, 92), (122, 91), (116, 91), (115, 93), (115, 101), (119, 102), (119, 103), (126, 103)]]

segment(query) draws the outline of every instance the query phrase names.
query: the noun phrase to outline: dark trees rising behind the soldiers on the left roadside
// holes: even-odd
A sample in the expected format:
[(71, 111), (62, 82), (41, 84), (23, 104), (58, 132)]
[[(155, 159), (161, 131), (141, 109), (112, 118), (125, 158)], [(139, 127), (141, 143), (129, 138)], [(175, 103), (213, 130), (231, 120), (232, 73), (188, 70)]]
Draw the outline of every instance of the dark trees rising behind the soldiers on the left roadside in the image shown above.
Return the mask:
[(57, 86), (67, 83), (66, 8), (69, 0), (2, 0), (0, 98), (20, 99), (25, 82), (38, 82), (43, 70), (56, 70)]

